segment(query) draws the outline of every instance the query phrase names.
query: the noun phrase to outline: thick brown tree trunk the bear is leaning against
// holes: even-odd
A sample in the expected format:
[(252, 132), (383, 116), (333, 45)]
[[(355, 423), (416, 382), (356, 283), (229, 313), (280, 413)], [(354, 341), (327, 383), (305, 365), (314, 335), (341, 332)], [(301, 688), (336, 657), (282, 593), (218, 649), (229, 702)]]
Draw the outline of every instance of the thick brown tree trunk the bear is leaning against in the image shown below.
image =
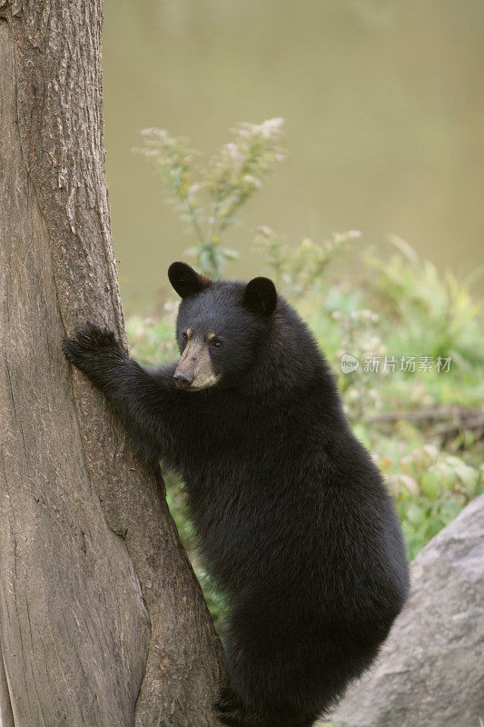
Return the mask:
[(104, 178), (101, 0), (0, 0), (0, 715), (208, 727), (221, 648), (159, 472), (61, 340), (125, 339)]

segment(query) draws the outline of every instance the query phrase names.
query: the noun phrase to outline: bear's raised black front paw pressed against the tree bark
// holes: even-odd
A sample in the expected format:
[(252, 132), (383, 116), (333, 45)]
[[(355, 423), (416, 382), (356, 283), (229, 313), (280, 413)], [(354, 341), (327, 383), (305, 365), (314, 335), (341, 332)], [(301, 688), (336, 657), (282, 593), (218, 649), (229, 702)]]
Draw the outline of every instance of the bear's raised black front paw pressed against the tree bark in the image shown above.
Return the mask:
[(113, 331), (92, 321), (88, 321), (84, 328), (76, 328), (73, 338), (64, 338), (63, 351), (67, 361), (95, 383), (104, 371), (111, 370), (113, 364), (128, 356)]

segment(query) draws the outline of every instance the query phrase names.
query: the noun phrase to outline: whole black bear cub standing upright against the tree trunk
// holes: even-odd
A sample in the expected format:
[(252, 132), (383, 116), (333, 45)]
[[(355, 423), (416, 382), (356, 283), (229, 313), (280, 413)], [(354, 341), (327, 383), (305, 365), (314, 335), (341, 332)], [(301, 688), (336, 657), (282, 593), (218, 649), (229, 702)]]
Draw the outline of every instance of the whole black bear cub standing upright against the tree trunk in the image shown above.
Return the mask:
[(373, 661), (409, 587), (400, 525), (323, 355), (268, 278), (173, 263), (181, 358), (136, 364), (94, 324), (64, 353), (143, 456), (183, 475), (231, 604), (220, 720), (310, 727)]

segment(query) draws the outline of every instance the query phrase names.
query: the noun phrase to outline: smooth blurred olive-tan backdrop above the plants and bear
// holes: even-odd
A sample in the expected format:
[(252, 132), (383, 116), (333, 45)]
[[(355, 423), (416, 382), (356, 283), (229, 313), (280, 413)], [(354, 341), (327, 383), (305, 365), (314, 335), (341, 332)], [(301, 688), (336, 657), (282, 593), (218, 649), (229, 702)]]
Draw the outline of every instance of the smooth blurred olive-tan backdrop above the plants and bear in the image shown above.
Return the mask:
[(163, 300), (167, 265), (194, 242), (131, 151), (152, 125), (189, 137), (204, 161), (237, 122), (286, 120), (289, 159), (228, 235), (242, 252), (228, 276), (260, 272), (260, 224), (314, 240), (356, 228), (377, 245), (391, 232), (440, 269), (484, 263), (482, 0), (106, 0), (104, 13), (128, 313)]

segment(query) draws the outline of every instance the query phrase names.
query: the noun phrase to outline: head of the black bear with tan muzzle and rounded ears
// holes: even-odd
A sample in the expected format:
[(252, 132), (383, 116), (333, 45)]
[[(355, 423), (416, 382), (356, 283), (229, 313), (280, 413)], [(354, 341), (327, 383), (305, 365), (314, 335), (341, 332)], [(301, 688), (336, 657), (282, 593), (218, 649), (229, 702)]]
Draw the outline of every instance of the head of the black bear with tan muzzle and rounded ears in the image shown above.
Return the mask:
[(186, 263), (171, 264), (168, 277), (182, 298), (176, 321), (177, 385), (193, 392), (237, 385), (271, 330), (278, 303), (272, 280), (212, 281)]

